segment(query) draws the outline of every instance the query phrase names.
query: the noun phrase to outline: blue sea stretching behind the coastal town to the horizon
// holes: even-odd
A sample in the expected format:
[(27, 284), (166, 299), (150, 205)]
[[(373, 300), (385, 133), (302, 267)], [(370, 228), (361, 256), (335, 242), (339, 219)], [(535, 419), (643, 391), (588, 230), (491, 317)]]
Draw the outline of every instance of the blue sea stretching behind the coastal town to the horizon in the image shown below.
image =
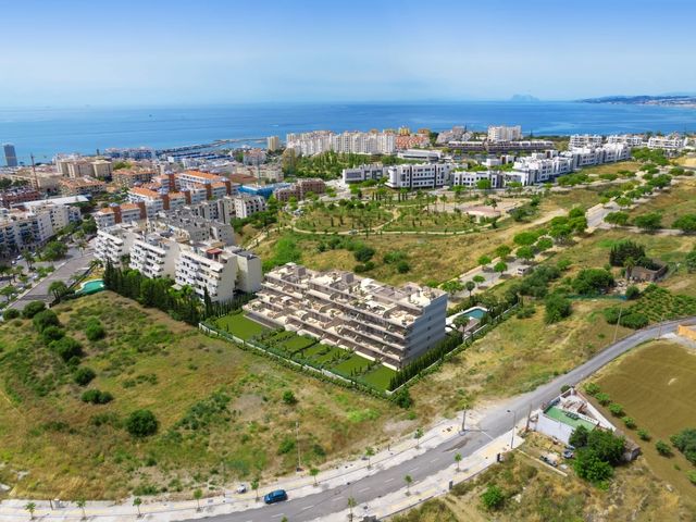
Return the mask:
[(0, 108), (0, 144), (14, 144), (20, 161), (95, 153), (110, 147), (154, 149), (314, 129), (369, 130), (408, 126), (432, 130), (463, 125), (521, 125), (524, 134), (570, 135), (696, 132), (696, 109), (582, 102), (257, 103), (199, 107)]

